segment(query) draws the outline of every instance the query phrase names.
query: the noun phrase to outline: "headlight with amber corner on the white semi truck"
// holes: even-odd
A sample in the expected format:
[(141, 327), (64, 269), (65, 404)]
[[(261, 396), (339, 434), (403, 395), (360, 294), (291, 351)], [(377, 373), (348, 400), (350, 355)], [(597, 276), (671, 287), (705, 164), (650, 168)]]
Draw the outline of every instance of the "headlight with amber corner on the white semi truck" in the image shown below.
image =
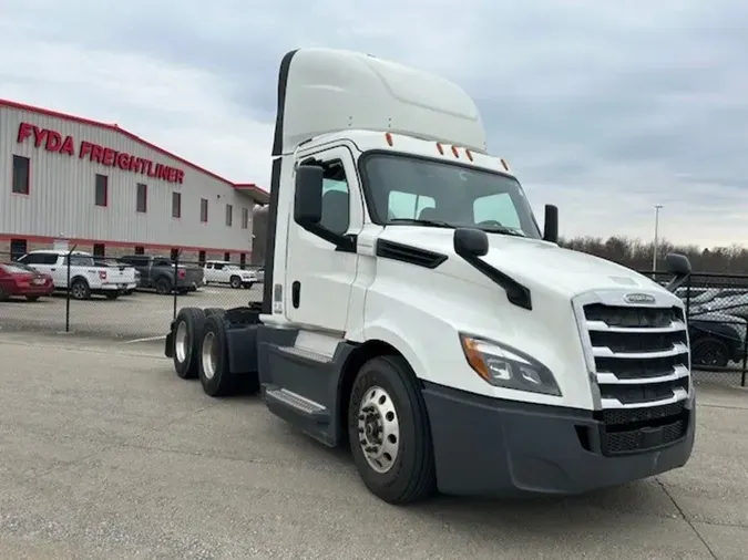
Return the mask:
[(519, 350), (467, 334), (460, 342), (470, 366), (491, 385), (561, 396), (551, 370)]

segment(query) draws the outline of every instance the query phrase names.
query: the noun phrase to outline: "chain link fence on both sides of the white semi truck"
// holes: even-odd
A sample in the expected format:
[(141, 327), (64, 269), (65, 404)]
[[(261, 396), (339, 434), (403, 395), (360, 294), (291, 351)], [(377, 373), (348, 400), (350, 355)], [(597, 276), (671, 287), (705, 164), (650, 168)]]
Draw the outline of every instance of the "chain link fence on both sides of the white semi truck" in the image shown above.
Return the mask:
[[(33, 258), (30, 260), (30, 257)], [(164, 336), (183, 307), (235, 308), (262, 301), (264, 270), (171, 257), (127, 260), (76, 253), (0, 253), (0, 330), (72, 332), (140, 341)], [(642, 273), (665, 284), (668, 274)], [(748, 383), (748, 276), (694, 273), (676, 291), (689, 320), (700, 381)]]

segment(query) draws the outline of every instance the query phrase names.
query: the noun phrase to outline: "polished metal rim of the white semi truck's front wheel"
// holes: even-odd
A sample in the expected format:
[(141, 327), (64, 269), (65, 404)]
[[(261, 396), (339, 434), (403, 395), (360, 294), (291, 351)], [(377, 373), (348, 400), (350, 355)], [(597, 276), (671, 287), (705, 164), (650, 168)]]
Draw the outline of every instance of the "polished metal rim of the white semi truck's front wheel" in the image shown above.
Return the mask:
[(361, 398), (358, 436), (369, 466), (379, 474), (389, 471), (400, 450), (400, 423), (392, 397), (379, 386), (367, 390)]

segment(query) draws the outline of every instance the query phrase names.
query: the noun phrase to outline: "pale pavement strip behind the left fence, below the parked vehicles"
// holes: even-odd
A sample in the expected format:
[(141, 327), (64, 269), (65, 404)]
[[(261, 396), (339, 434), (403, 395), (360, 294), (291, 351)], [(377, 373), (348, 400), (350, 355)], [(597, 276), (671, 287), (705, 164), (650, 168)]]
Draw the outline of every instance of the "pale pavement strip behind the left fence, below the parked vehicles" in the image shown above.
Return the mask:
[[(177, 298), (183, 307), (234, 308), (263, 299), (263, 287), (233, 290), (205, 287)], [(96, 298), (70, 302), (70, 329), (79, 334), (105, 335), (133, 340), (161, 336), (168, 329), (174, 298), (153, 292), (134, 292), (115, 301)], [(37, 302), (12, 300), (0, 302), (1, 331), (61, 332), (65, 330), (65, 298), (43, 298)]]

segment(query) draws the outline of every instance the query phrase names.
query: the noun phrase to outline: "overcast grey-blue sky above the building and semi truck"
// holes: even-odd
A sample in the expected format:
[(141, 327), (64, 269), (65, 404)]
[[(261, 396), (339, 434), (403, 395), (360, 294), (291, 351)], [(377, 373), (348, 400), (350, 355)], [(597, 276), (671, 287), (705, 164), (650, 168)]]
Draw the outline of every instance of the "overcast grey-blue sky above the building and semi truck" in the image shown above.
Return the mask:
[(748, 242), (746, 0), (4, 0), (0, 97), (269, 184), (283, 54), (365, 51), (478, 102), (565, 236)]

